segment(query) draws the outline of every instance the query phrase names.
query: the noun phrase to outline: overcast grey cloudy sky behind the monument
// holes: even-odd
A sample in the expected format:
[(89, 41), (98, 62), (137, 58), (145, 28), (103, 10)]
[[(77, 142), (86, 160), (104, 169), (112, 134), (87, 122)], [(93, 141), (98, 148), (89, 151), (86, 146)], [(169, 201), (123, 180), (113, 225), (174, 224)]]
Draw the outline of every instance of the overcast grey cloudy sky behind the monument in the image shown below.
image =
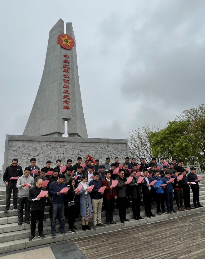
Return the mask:
[(0, 165), (22, 135), (49, 30), (72, 22), (89, 137), (126, 138), (205, 103), (204, 0), (1, 0)]

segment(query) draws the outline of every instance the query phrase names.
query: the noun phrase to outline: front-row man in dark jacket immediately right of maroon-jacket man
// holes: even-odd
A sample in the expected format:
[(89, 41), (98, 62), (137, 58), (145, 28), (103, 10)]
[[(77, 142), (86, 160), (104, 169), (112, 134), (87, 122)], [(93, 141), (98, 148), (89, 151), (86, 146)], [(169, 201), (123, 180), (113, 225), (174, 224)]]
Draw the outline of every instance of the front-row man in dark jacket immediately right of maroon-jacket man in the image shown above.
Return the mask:
[(119, 216), (121, 223), (124, 224), (124, 221), (129, 221), (126, 218), (126, 207), (127, 207), (127, 190), (126, 185), (127, 181), (124, 178), (124, 170), (119, 169), (119, 176), (116, 178), (118, 180), (116, 190), (117, 190), (117, 199), (119, 203)]

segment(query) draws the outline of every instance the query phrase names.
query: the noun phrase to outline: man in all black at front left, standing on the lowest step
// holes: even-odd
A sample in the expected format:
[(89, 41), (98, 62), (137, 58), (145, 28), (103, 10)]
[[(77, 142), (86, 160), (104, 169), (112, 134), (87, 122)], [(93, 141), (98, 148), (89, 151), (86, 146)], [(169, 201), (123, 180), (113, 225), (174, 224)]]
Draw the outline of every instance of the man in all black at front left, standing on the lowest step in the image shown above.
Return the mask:
[[(46, 188), (42, 187), (43, 180), (38, 179), (36, 186), (32, 187), (28, 193), (28, 200), (31, 202), (31, 237), (28, 241), (32, 241), (36, 238), (36, 220), (38, 217), (38, 237), (45, 238), (43, 235), (43, 218), (44, 218), (44, 209), (45, 209), (45, 197), (37, 197), (42, 190)], [(46, 198), (48, 194), (46, 194)]]

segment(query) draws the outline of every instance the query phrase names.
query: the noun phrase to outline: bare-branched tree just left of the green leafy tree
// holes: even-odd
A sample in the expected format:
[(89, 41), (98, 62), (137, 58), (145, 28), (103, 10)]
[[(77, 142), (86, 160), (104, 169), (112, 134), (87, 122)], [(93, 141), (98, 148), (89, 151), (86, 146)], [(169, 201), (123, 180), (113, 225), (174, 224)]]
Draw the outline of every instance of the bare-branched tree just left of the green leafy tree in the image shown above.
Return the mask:
[[(157, 131), (159, 131), (159, 126), (150, 128), (149, 125), (144, 125), (142, 128), (137, 128), (135, 131), (130, 132), (129, 137), (127, 138), (130, 155), (135, 157), (138, 161), (145, 158), (146, 162), (149, 163), (153, 154), (148, 138), (151, 132)], [(159, 161), (158, 155), (156, 156), (156, 159)]]

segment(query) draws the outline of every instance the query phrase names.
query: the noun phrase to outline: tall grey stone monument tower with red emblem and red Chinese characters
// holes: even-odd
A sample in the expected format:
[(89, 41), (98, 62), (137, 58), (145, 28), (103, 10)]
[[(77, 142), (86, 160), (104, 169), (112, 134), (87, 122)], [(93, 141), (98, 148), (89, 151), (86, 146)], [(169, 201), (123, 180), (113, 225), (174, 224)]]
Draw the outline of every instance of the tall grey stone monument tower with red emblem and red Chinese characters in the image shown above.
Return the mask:
[[(57, 43), (56, 44), (56, 40)], [(87, 138), (72, 23), (60, 19), (50, 30), (41, 83), (23, 135)]]

